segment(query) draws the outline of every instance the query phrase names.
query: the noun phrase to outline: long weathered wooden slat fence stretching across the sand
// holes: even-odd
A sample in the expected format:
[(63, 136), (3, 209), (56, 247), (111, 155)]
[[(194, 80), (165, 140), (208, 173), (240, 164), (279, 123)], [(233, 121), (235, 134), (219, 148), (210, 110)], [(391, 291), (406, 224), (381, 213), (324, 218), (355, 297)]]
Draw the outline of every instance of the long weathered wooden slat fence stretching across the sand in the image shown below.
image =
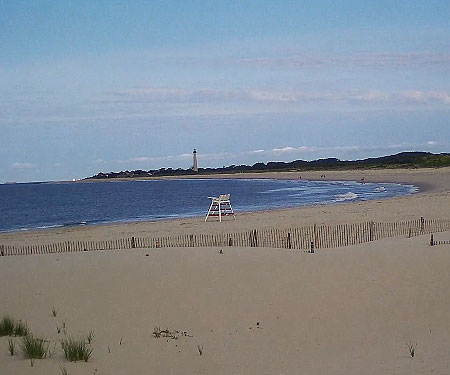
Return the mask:
[(420, 218), (394, 223), (310, 225), (288, 229), (260, 229), (237, 233), (182, 234), (167, 237), (131, 237), (104, 241), (65, 241), (44, 245), (0, 245), (0, 256), (68, 253), (163, 247), (272, 247), (309, 251), (376, 241), (387, 237), (413, 237), (450, 230), (450, 220)]

